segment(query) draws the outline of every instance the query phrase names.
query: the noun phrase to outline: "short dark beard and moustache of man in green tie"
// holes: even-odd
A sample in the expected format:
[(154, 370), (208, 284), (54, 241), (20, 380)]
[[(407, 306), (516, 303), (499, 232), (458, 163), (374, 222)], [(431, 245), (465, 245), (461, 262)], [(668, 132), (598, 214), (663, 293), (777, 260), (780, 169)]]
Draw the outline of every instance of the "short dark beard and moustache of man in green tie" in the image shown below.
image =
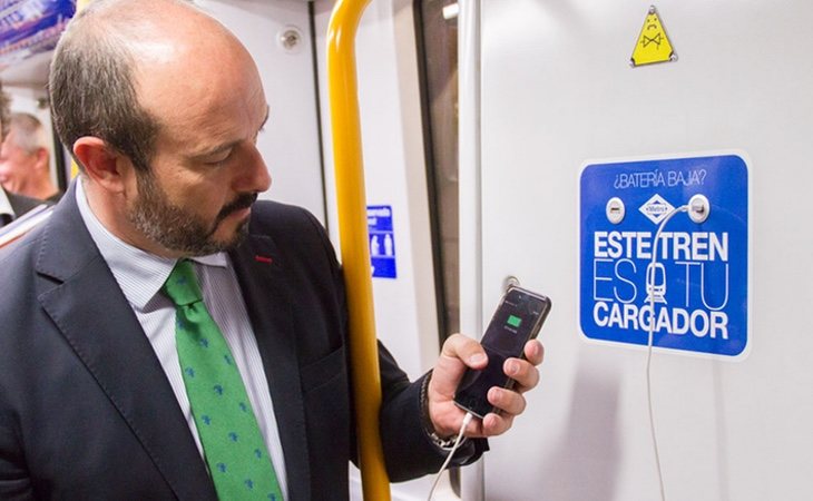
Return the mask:
[(257, 199), (256, 193), (239, 195), (234, 202), (223, 207), (215, 220), (208, 225), (196, 214), (169, 202), (151, 173), (138, 173), (137, 181), (138, 197), (127, 210), (127, 217), (136, 229), (167, 249), (186, 256), (204, 256), (228, 250), (243, 242), (248, 234), (248, 220), (246, 219), (235, 228), (232, 238), (223, 242), (213, 238), (226, 216), (254, 204)]

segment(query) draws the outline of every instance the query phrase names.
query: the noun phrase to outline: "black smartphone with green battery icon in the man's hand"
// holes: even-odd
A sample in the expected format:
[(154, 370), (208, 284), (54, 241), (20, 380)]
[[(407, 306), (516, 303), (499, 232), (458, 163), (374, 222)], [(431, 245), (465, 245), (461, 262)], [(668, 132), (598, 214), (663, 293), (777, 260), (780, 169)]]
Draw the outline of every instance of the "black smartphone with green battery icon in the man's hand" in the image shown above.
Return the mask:
[(502, 371), (506, 360), (525, 358), (523, 347), (542, 328), (550, 312), (550, 299), (521, 287), (511, 286), (502, 296), (480, 344), (488, 355), (488, 365), (468, 369), (454, 392), (454, 403), (482, 419), (494, 411), (487, 399), (492, 386), (510, 389), (513, 380)]

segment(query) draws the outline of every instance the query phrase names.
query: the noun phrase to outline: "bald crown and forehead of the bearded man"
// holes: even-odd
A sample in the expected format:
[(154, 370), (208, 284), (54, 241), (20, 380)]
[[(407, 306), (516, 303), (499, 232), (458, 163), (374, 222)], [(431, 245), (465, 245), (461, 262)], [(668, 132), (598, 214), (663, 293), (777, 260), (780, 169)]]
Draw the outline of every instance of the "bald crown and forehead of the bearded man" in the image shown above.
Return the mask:
[[(227, 140), (245, 134), (234, 130), (235, 122), (258, 126), (253, 122), (257, 116), (265, 117), (266, 101), (248, 51), (208, 16), (190, 9), (182, 13), (186, 21), (170, 16), (150, 18), (126, 39), (134, 90), (140, 106), (160, 125), (158, 140), (189, 146), (198, 139)], [(194, 22), (187, 22), (189, 18)], [(241, 108), (244, 116), (235, 120), (235, 110)], [(186, 130), (174, 130), (176, 127)]]

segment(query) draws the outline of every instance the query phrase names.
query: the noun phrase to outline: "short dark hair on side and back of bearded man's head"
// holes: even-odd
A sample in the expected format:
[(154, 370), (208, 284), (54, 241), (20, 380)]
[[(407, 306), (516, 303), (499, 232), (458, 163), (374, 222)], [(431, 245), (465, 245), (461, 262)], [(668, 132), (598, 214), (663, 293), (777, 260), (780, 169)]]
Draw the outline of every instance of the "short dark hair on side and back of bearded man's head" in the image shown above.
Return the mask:
[(159, 124), (138, 102), (135, 58), (127, 45), (127, 37), (137, 33), (123, 22), (139, 2), (120, 3), (97, 0), (69, 22), (51, 61), (51, 112), (69, 150), (77, 139), (95, 136), (147, 171)]

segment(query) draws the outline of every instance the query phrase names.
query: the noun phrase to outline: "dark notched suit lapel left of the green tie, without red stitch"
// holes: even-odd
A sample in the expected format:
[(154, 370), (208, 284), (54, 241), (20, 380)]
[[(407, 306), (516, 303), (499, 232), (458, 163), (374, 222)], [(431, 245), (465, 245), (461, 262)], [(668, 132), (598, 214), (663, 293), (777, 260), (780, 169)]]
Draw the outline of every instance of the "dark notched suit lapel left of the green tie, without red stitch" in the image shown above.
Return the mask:
[(90, 238), (74, 193), (43, 228), (37, 272), (61, 284), (48, 281), (39, 301), (177, 498), (215, 500), (172, 386)]

